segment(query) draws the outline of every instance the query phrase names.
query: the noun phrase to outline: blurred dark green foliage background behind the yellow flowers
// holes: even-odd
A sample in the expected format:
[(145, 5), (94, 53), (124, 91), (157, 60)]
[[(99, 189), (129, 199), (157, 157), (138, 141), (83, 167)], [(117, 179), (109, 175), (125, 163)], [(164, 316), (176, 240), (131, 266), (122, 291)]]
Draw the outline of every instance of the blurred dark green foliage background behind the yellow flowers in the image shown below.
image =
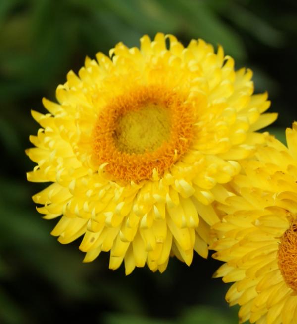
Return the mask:
[(185, 45), (203, 38), (254, 71), (255, 91), (268, 90), (271, 131), (297, 119), (297, 4), (261, 0), (0, 0), (0, 323), (233, 324), (227, 285), (212, 280), (219, 266), (195, 256), (191, 267), (172, 259), (163, 273), (108, 270), (108, 254), (82, 264), (78, 242), (62, 246), (49, 235), (26, 182), (33, 163), (24, 154), (38, 125), (30, 109), (86, 55), (115, 43), (139, 44), (157, 31)]

